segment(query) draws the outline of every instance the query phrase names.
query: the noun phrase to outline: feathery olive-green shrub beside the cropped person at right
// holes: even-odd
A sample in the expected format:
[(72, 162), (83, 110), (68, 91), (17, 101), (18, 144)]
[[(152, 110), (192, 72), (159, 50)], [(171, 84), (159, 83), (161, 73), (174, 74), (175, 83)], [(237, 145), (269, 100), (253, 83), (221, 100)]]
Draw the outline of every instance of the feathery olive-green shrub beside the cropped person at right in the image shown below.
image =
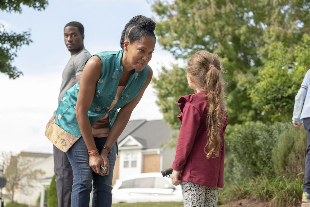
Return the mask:
[[(272, 152), (277, 175), (297, 175), (303, 178), (306, 161), (307, 134), (293, 125), (278, 137)], [(302, 172), (302, 173), (301, 173)]]

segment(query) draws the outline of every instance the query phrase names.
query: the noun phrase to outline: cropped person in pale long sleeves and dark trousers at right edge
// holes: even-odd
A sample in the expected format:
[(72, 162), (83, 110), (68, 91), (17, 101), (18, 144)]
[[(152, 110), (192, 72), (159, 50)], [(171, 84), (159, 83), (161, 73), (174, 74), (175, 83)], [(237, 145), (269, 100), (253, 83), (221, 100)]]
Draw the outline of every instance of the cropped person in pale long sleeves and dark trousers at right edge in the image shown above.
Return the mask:
[[(310, 202), (310, 70), (307, 71), (301, 87), (295, 96), (293, 124), (300, 129), (301, 123), (307, 133), (307, 155), (305, 163), (305, 182), (303, 183), (303, 203)], [(302, 109), (302, 110), (301, 110)]]

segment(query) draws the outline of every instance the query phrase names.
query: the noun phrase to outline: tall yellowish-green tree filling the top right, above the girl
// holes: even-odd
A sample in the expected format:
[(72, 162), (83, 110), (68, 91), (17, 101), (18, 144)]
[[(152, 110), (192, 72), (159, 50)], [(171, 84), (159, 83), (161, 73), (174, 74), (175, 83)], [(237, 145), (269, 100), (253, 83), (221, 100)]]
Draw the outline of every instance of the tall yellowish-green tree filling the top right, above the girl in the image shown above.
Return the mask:
[(308, 0), (154, 0), (152, 8), (158, 41), (176, 58), (187, 58), (197, 49), (223, 57), (231, 82), (228, 121), (233, 124), (261, 118), (248, 97), (252, 86), (240, 84), (239, 78), (253, 83), (268, 57), (266, 45), (280, 41), (290, 47), (309, 33), (304, 26), (310, 23), (309, 7)]

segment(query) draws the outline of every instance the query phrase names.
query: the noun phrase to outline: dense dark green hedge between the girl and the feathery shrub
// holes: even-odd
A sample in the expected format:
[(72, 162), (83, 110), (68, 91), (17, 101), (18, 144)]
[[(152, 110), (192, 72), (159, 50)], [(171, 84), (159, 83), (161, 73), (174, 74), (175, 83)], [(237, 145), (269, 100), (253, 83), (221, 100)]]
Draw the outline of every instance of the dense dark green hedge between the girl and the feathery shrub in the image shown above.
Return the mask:
[(277, 137), (290, 127), (288, 123), (263, 124), (246, 122), (235, 125), (227, 139), (232, 153), (232, 178), (252, 178), (266, 175), (274, 178), (272, 150), (277, 145)]

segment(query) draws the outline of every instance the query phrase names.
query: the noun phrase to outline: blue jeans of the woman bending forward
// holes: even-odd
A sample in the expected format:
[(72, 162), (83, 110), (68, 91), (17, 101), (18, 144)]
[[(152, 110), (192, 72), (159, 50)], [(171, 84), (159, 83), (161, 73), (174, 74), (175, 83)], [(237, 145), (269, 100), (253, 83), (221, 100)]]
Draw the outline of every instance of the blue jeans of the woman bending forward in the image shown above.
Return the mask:
[[(99, 153), (107, 137), (94, 137), (95, 144)], [(73, 169), (73, 184), (71, 194), (72, 207), (89, 206), (89, 197), (91, 193), (91, 181), (93, 181), (93, 200), (92, 207), (112, 205), (112, 178), (116, 159), (116, 143), (112, 147), (113, 151), (108, 155), (109, 174), (100, 176), (94, 173), (88, 163), (88, 150), (83, 137), (67, 151), (67, 156)]]

